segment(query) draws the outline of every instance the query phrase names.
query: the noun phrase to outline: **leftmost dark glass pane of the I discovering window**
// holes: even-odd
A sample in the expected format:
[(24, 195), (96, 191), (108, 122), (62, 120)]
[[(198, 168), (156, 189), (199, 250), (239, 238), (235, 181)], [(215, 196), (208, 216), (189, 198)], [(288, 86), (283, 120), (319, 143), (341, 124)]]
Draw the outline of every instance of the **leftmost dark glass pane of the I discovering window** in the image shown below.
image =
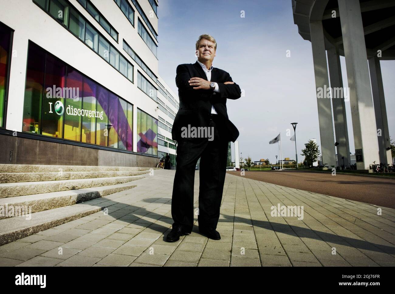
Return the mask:
[[(1, 36), (1, 35), (0, 35)], [(22, 131), (41, 133), (41, 109), (44, 91), (45, 52), (29, 42)]]

